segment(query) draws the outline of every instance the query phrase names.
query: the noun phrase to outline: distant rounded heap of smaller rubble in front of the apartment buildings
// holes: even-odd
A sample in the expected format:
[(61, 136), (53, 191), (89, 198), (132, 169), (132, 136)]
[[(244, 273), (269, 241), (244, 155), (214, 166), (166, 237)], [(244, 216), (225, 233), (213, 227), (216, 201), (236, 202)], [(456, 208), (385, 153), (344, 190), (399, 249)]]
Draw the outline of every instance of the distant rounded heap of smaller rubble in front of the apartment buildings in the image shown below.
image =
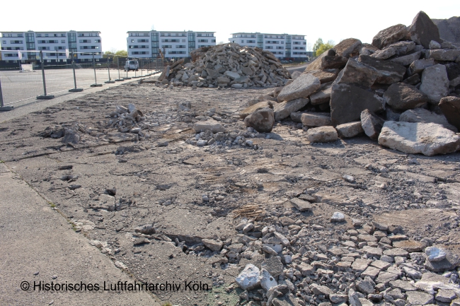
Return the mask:
[(205, 49), (197, 49), (195, 58), (198, 59), (192, 63), (183, 65), (181, 59), (166, 66), (156, 84), (247, 88), (284, 86), (291, 78), (272, 52), (234, 43)]

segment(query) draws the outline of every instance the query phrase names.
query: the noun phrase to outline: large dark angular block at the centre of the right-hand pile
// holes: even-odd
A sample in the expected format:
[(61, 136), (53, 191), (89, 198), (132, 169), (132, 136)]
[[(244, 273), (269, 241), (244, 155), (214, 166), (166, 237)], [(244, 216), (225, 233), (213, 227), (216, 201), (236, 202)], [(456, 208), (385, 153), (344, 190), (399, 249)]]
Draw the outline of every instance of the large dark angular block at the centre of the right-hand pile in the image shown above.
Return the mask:
[(330, 94), (330, 119), (333, 126), (360, 120), (363, 110), (381, 112), (385, 100), (372, 91), (348, 84), (335, 84)]

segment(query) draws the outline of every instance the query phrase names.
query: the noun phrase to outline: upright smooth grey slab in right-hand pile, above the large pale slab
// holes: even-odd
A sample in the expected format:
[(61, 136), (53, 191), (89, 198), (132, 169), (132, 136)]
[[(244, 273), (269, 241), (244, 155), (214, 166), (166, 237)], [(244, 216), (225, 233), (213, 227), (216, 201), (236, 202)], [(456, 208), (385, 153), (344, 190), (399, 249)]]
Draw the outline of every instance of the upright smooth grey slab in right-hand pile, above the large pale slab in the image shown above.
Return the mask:
[(449, 78), (446, 67), (437, 64), (425, 68), (422, 73), (420, 90), (430, 98), (432, 104), (437, 105), (441, 98), (449, 94)]

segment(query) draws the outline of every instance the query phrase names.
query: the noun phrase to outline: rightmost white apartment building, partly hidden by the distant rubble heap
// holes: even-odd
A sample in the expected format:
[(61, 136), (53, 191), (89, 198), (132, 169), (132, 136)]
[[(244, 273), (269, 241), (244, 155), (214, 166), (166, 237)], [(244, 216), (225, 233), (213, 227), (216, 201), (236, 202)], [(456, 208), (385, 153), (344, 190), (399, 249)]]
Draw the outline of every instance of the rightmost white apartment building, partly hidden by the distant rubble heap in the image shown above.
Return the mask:
[(306, 57), (305, 35), (269, 33), (232, 33), (229, 42), (241, 46), (259, 47), (272, 52), (280, 59), (299, 59)]

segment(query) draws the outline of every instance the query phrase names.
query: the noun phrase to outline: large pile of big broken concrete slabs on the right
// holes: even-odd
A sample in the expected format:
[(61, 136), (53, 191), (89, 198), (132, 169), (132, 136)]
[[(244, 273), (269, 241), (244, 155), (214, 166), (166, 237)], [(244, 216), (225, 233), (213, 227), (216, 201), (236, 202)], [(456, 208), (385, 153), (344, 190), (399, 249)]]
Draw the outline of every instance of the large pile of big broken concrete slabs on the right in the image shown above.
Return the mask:
[(246, 126), (270, 131), (272, 113), (275, 122), (301, 123), (313, 143), (364, 133), (405, 153), (460, 148), (460, 48), (422, 11), (372, 45), (343, 40), (271, 96), (241, 112)]

